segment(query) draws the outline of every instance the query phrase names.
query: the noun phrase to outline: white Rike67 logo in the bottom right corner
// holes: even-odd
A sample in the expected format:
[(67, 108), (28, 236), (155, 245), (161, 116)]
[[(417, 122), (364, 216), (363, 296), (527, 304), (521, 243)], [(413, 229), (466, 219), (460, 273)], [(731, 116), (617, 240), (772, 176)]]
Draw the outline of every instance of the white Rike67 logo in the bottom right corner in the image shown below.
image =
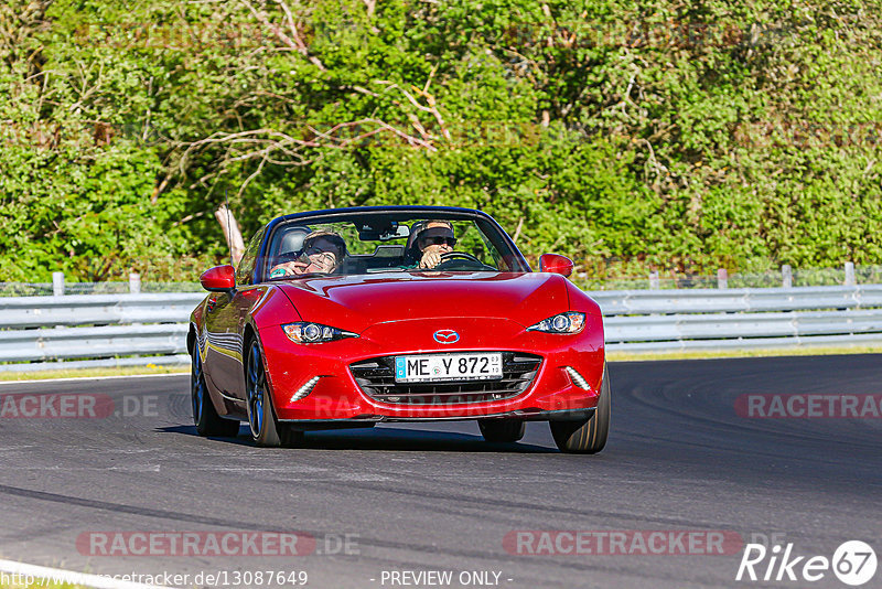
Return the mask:
[(826, 556), (796, 555), (793, 543), (783, 549), (779, 544), (771, 549), (762, 544), (747, 544), (735, 580), (814, 582), (824, 579), (832, 570), (843, 583), (858, 587), (873, 578), (876, 565), (875, 551), (860, 540), (843, 543), (831, 559)]

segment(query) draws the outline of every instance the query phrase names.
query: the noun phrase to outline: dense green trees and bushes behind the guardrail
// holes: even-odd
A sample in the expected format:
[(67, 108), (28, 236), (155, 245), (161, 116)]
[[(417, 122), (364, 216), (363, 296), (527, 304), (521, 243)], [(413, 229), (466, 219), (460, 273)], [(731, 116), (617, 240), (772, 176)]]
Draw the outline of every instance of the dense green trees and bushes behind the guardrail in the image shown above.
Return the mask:
[(880, 62), (858, 0), (11, 0), (0, 280), (192, 279), (225, 195), (246, 238), (480, 207), (591, 276), (879, 264)]

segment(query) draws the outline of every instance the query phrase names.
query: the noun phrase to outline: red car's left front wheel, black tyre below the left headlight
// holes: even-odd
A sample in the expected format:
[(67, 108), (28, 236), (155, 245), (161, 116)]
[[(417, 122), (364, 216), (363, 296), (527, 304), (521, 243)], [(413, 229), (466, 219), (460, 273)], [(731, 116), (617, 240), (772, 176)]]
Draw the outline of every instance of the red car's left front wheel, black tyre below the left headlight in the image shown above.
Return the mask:
[(303, 432), (292, 429), (290, 426), (279, 424), (276, 419), (276, 411), (272, 408), (272, 399), (269, 394), (267, 373), (263, 368), (263, 354), (260, 351), (260, 342), (255, 338), (248, 346), (248, 362), (245, 366), (245, 385), (248, 426), (251, 430), (251, 439), (258, 446), (265, 447), (292, 447), (303, 441)]

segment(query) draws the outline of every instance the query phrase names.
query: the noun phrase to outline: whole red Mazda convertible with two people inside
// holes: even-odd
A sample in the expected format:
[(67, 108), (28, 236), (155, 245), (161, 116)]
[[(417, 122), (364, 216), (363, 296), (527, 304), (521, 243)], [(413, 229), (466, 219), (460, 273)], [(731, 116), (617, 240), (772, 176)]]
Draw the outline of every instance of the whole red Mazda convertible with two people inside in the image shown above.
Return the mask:
[(193, 418), (202, 436), (292, 446), (315, 429), (476, 420), (513, 442), (548, 421), (564, 452), (610, 426), (600, 308), (546, 254), (530, 270), (487, 214), (440, 206), (278, 217), (238, 268), (205, 271), (193, 311)]

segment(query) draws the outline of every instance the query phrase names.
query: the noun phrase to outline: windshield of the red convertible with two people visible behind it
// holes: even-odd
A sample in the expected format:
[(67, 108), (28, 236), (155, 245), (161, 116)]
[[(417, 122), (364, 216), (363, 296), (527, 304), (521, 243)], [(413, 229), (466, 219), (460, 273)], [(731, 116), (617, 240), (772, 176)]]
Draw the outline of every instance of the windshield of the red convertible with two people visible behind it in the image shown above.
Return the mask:
[(452, 212), (362, 212), (286, 221), (273, 228), (266, 254), (262, 271), (269, 280), (316, 274), (529, 271), (495, 223)]

